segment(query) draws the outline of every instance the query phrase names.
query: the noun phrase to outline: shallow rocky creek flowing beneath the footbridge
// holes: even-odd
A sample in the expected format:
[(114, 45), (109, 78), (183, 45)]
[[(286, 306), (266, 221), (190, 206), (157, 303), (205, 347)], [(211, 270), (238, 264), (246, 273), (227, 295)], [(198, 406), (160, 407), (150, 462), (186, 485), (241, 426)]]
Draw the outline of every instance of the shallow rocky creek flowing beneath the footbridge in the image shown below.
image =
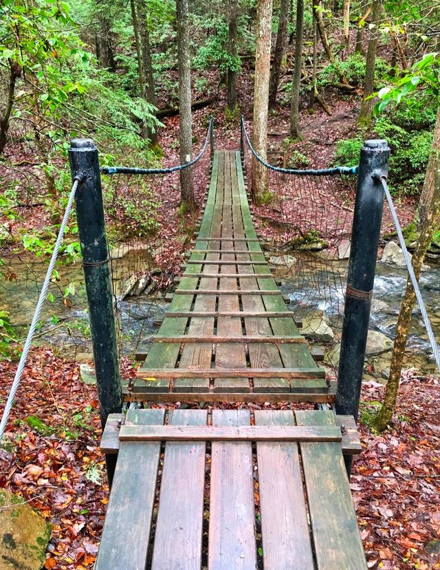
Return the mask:
[[(121, 251), (121, 250), (120, 250)], [(303, 319), (304, 333), (311, 342), (326, 351), (325, 362), (338, 364), (338, 343), (344, 311), (344, 290), (348, 262), (323, 262), (319, 256), (269, 254), (281, 280), (281, 291), (290, 298), (290, 307)], [(287, 265), (286, 265), (287, 264)], [(118, 329), (122, 353), (133, 354), (138, 345), (148, 347), (168, 307), (164, 292), (154, 287), (151, 294), (122, 300), (133, 272), (139, 276), (151, 270), (151, 256), (144, 250), (122, 250), (113, 255), (111, 270), (117, 307)], [(30, 325), (47, 263), (30, 256), (12, 256), (5, 261), (0, 283), (0, 310), (10, 314), (10, 321), (23, 337)], [(85, 362), (91, 359), (87, 320), (87, 300), (80, 263), (57, 267), (59, 278), (50, 287), (50, 300), (44, 305), (36, 344), (50, 346), (67, 360)], [(396, 265), (377, 263), (374, 298), (371, 311), (371, 334), (367, 355), (366, 377), (386, 380), (395, 334), (397, 314), (406, 287), (406, 270)], [(421, 292), (428, 308), (432, 327), (440, 336), (440, 265), (426, 267), (421, 276)], [(70, 292), (66, 295), (67, 287)], [(148, 291), (148, 289), (146, 289)], [(434, 371), (426, 331), (418, 307), (408, 338), (405, 366), (415, 366), (421, 373)]]

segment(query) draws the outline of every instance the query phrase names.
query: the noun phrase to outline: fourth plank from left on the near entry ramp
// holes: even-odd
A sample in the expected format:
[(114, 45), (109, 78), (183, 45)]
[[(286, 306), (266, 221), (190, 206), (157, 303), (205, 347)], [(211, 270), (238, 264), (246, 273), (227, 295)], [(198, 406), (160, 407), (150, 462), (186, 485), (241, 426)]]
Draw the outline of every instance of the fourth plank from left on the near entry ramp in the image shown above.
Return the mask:
[[(292, 411), (256, 410), (261, 428), (294, 428)], [(287, 440), (286, 440), (287, 441)], [(298, 444), (258, 441), (261, 535), (265, 570), (314, 568)]]

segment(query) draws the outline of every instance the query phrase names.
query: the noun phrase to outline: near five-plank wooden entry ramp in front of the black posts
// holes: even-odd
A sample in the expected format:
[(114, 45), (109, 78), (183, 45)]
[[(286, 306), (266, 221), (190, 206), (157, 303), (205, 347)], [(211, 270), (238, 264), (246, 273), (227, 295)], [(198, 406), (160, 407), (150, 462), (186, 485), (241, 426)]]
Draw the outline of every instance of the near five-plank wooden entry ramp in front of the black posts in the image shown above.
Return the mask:
[(95, 570), (366, 570), (333, 412), (129, 410), (119, 431)]

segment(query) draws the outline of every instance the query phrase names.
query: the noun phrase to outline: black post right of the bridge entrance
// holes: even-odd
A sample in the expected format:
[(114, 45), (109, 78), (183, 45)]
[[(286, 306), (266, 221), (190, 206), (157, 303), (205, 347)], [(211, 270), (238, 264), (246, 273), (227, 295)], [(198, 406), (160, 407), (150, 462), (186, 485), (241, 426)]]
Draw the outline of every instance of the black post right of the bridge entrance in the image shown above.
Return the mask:
[[(388, 174), (389, 157), (385, 140), (365, 141), (360, 153), (336, 392), (336, 413), (353, 415), (355, 419), (358, 419), (384, 206), (380, 177)], [(346, 465), (350, 472), (351, 457), (346, 457)]]

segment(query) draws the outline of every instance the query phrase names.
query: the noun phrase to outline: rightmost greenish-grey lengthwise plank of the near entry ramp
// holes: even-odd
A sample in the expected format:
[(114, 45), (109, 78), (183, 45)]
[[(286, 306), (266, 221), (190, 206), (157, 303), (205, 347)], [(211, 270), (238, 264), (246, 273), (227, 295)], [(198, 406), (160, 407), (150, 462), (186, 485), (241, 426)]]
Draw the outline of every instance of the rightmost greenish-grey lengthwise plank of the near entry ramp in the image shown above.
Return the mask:
[[(334, 426), (333, 412), (296, 411), (298, 426)], [(339, 443), (300, 443), (318, 570), (366, 570)]]

